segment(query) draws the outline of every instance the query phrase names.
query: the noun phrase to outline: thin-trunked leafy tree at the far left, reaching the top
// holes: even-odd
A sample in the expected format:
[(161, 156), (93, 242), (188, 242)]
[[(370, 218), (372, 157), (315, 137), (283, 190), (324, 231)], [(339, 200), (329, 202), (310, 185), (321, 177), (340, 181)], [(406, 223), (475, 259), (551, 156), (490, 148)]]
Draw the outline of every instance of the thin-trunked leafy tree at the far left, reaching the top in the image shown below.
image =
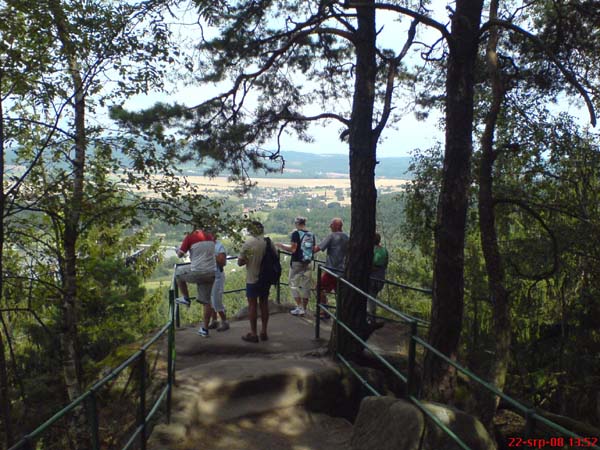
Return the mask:
[[(68, 398), (74, 399), (81, 393), (84, 382), (77, 342), (78, 298), (81, 295), (77, 279), (77, 272), (81, 270), (78, 240), (89, 226), (82, 217), (93, 222), (98, 217), (96, 214), (102, 214), (97, 209), (94, 214), (87, 215), (87, 208), (103, 195), (94, 191), (94, 183), (98, 180), (86, 171), (86, 155), (92, 147), (110, 153), (107, 141), (99, 139), (99, 129), (91, 127), (87, 118), (113, 95), (139, 92), (145, 89), (144, 86), (156, 84), (160, 69), (152, 63), (161, 58), (166, 63), (168, 48), (161, 45), (164, 44), (161, 42), (162, 30), (154, 29), (150, 41), (144, 37), (145, 30), (136, 30), (140, 20), (153, 14), (147, 4), (9, 1), (3, 3), (0, 13), (3, 18), (6, 16), (0, 28), (3, 38), (0, 92), (2, 106), (7, 105), (6, 110), (0, 109), (3, 177), (0, 261), (1, 264), (9, 261), (3, 250), (18, 245), (26, 229), (15, 227), (15, 224), (26, 225), (32, 218), (50, 219), (55, 231), (51, 236), (56, 239), (55, 243), (62, 244), (48, 246), (46, 236), (40, 239), (35, 234), (31, 235), (34, 240), (30, 242), (40, 243), (44, 251), (51, 249), (52, 253), (45, 256), (57, 261), (61, 281), (57, 292), (63, 299), (63, 307), (58, 311), (64, 313), (61, 328), (63, 381)], [(132, 69), (132, 63), (139, 64)], [(110, 78), (117, 78), (115, 73), (118, 73), (123, 79), (120, 89), (107, 93), (103, 91), (103, 80), (109, 71), (112, 71)], [(12, 164), (24, 163), (23, 172), (15, 171), (14, 167), (7, 168), (4, 164), (7, 155)], [(109, 159), (104, 160), (108, 163), (105, 171), (115, 166), (115, 159)], [(165, 186), (167, 183), (163, 188)], [(111, 212), (114, 213), (114, 208)], [(47, 225), (48, 221), (42, 223)], [(7, 271), (1, 272), (0, 292), (5, 295), (11, 287), (4, 283)], [(21, 278), (11, 274), (11, 282)], [(40, 274), (30, 278), (32, 283), (48, 283)], [(22, 300), (6, 297), (3, 300), (6, 308), (0, 316), (4, 325), (0, 333), (6, 333), (4, 336), (14, 357), (10, 330), (3, 315), (4, 311), (11, 310), (9, 300)], [(24, 309), (29, 310), (29, 307)], [(0, 351), (4, 357), (4, 345), (0, 346)], [(10, 407), (11, 396), (3, 369), (5, 366), (0, 367), (3, 390), (0, 417), (6, 441), (10, 443), (7, 406)]]

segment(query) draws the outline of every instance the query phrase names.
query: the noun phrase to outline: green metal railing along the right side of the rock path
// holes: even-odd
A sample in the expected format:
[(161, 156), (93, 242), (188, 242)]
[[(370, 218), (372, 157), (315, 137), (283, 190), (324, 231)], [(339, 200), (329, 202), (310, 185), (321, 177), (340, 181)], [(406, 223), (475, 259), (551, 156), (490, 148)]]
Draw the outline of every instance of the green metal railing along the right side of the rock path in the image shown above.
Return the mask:
[[(318, 293), (320, 292), (320, 287), (321, 287), (320, 286), (321, 285), (321, 273), (323, 271), (327, 272), (331, 276), (335, 277), (337, 280), (337, 288), (335, 291), (335, 302), (336, 302), (336, 306), (335, 306), (336, 313), (335, 314), (330, 311), (330, 308), (328, 308), (326, 305), (320, 304), (318, 301), (318, 298), (319, 298)], [(339, 320), (337, 312), (341, 310), (340, 309), (341, 308), (341, 298), (340, 298), (340, 289), (339, 289), (340, 283), (343, 283), (346, 286), (348, 286), (350, 289), (353, 289), (354, 291), (360, 293), (367, 300), (374, 301), (379, 307), (384, 308), (388, 312), (399, 317), (404, 323), (407, 323), (409, 325), (410, 332), (409, 332), (409, 346), (408, 346), (408, 369), (407, 369), (408, 373), (406, 375), (401, 373), (400, 371), (398, 371), (395, 367), (393, 367), (392, 364), (389, 363), (389, 361), (387, 361), (385, 358), (383, 358), (381, 355), (379, 355), (373, 348), (371, 348), (367, 344), (367, 342), (365, 342), (363, 339), (361, 339), (352, 329), (350, 329), (350, 327), (348, 327), (348, 325), (346, 325), (344, 322)], [(393, 284), (398, 285), (397, 283), (393, 283)], [(403, 285), (400, 285), (400, 286), (407, 287), (407, 286), (403, 286)], [(412, 289), (416, 290), (417, 288), (412, 288)], [(418, 289), (418, 290), (420, 290), (422, 292), (427, 291), (427, 290), (422, 290), (422, 289)], [(521, 412), (521, 414), (523, 414), (525, 416), (525, 420), (526, 420), (525, 433), (527, 436), (532, 436), (533, 432), (535, 431), (536, 423), (541, 423), (541, 424), (544, 424), (546, 427), (550, 428), (551, 430), (553, 430), (557, 433), (560, 433), (560, 435), (562, 435), (568, 439), (568, 441), (567, 441), (562, 438), (557, 438), (557, 439), (553, 438), (554, 439), (553, 444), (550, 444), (549, 440), (547, 440), (547, 439), (530, 439), (530, 440), (526, 440), (528, 443), (527, 444), (528, 446), (538, 447), (539, 445), (541, 445), (541, 446), (552, 445), (554, 447), (558, 447), (558, 446), (563, 447), (564, 445), (566, 445), (567, 447), (569, 447), (569, 446), (573, 447), (573, 445), (569, 445), (570, 442), (585, 442), (587, 448), (593, 448), (596, 450), (600, 450), (600, 447), (598, 447), (596, 445), (592, 445), (593, 442), (586, 440), (585, 437), (582, 437), (576, 433), (573, 433), (570, 430), (567, 430), (566, 428), (562, 427), (561, 425), (559, 425), (555, 422), (552, 422), (552, 421), (546, 419), (545, 417), (541, 416), (534, 409), (528, 408), (527, 406), (519, 403), (517, 400), (515, 400), (515, 399), (509, 397), (508, 395), (504, 394), (503, 392), (501, 392), (496, 386), (479, 378), (477, 375), (475, 375), (468, 369), (464, 368), (463, 366), (458, 364), (456, 361), (451, 360), (446, 355), (441, 353), (439, 350), (432, 347), (425, 340), (421, 339), (417, 334), (418, 333), (418, 325), (420, 322), (422, 322), (421, 319), (417, 319), (415, 317), (404, 314), (400, 311), (396, 311), (394, 308), (391, 308), (390, 306), (379, 301), (377, 298), (369, 295), (368, 293), (366, 293), (366, 292), (362, 291), (361, 289), (359, 289), (358, 287), (354, 286), (349, 281), (345, 280), (340, 274), (336, 273), (335, 271), (330, 270), (327, 267), (321, 266), (321, 265), (319, 265), (318, 270), (317, 270), (317, 310), (316, 310), (317, 313), (315, 314), (315, 318), (316, 318), (315, 319), (315, 336), (316, 336), (316, 338), (319, 338), (319, 334), (320, 334), (320, 331), (319, 331), (320, 311), (319, 310), (325, 312), (325, 314), (327, 314), (329, 317), (331, 317), (335, 321), (336, 326), (342, 328), (350, 336), (352, 336), (354, 339), (356, 339), (362, 346), (364, 346), (364, 348), (366, 348), (369, 352), (371, 352), (371, 354), (373, 354), (373, 356), (375, 356), (375, 358), (378, 361), (380, 361), (385, 367), (387, 367), (402, 382), (404, 382), (407, 386), (407, 398), (413, 404), (415, 404), (415, 406), (417, 408), (419, 408), (419, 410), (421, 410), (425, 415), (427, 415), (427, 417), (429, 417), (439, 428), (441, 428), (444, 431), (444, 433), (446, 433), (463, 450), (471, 450), (471, 448), (462, 439), (460, 439), (452, 430), (450, 430), (444, 423), (442, 423), (431, 411), (429, 411), (425, 407), (423, 402), (421, 402), (421, 400), (419, 399), (420, 393), (417, 388), (420, 384), (419, 383), (420, 380), (417, 379), (417, 375), (416, 375), (416, 371), (415, 371), (417, 345), (420, 345), (424, 349), (427, 349), (433, 355), (442, 359), (444, 362), (446, 362), (447, 364), (450, 364), (451, 366), (456, 368), (459, 372), (466, 375), (467, 378), (469, 378), (470, 380), (475, 381), (477, 384), (483, 386), (488, 392), (490, 392), (491, 394), (493, 394), (497, 397), (500, 397), (502, 400), (509, 403), (516, 410)], [(339, 332), (339, 329), (337, 330), (337, 332)], [(377, 392), (377, 390), (373, 386), (371, 386), (368, 383), (368, 381), (366, 381), (352, 367), (350, 362), (339, 351), (337, 351), (337, 349), (336, 349), (336, 357), (342, 362), (342, 364), (344, 364), (346, 367), (348, 367), (348, 369), (351, 371), (351, 373), (354, 374), (359, 379), (359, 381), (363, 384), (363, 386), (365, 386), (372, 395), (375, 395), (375, 396), (381, 395), (379, 392)], [(548, 441), (548, 442), (546, 442), (546, 441)], [(529, 445), (529, 444), (531, 444), (531, 445)], [(554, 444), (557, 444), (557, 445), (554, 445)]]

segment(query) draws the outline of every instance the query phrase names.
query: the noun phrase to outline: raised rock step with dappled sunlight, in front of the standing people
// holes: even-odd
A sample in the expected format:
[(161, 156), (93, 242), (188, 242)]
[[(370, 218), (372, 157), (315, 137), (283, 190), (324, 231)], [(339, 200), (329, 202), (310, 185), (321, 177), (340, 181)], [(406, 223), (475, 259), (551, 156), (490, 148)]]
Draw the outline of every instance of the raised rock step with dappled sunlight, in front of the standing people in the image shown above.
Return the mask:
[(235, 358), (177, 372), (173, 421), (210, 425), (305, 404), (330, 409), (341, 389), (340, 367), (327, 358)]

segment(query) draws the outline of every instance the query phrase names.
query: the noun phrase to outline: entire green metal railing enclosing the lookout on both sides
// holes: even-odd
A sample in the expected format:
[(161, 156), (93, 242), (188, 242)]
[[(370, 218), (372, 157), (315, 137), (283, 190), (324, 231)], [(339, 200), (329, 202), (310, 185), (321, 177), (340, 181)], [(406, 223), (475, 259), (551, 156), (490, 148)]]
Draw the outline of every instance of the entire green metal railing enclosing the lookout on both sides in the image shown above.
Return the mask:
[[(281, 256), (282, 253), (289, 254), (289, 252), (278, 251), (279, 256)], [(228, 259), (235, 259), (235, 258), (237, 258), (237, 257), (236, 256), (228, 257)], [(477, 382), (478, 384), (483, 386), (486, 390), (488, 390), (490, 393), (502, 398), (505, 402), (509, 403), (515, 409), (520, 411), (526, 418), (526, 433), (528, 435), (531, 435), (534, 432), (536, 423), (541, 423), (541, 424), (544, 424), (545, 426), (549, 427), (550, 429), (560, 433), (561, 435), (566, 436), (569, 439), (578, 440), (576, 442), (588, 443), (588, 441), (585, 440), (584, 437), (579, 436), (576, 433), (573, 433), (573, 432), (567, 430), (566, 428), (546, 419), (545, 417), (537, 414), (534, 409), (528, 408), (528, 407), (524, 406), (523, 404), (519, 403), (518, 401), (514, 400), (513, 398), (507, 396), (506, 394), (504, 394), (503, 392), (498, 390), (495, 386), (482, 380), (477, 375), (470, 372), (468, 369), (462, 367), (460, 364), (451, 360), (446, 355), (442, 354), (440, 351), (438, 351), (437, 349), (432, 347), (425, 340), (421, 339), (418, 336), (418, 327), (424, 326), (424, 325), (427, 326), (428, 325), (427, 321), (424, 321), (417, 317), (413, 317), (406, 313), (402, 313), (402, 312), (397, 311), (396, 309), (390, 307), (389, 305), (382, 303), (379, 299), (369, 295), (368, 293), (362, 291), (358, 287), (351, 284), (349, 281), (345, 280), (342, 277), (342, 275), (340, 275), (336, 271), (325, 267), (323, 265), (323, 263), (324, 263), (323, 261), (315, 260), (315, 263), (317, 263), (317, 286), (316, 286), (317, 306), (315, 309), (315, 337), (318, 339), (320, 336), (320, 321), (321, 321), (320, 313), (324, 312), (325, 314), (327, 314), (329, 317), (331, 317), (334, 320), (335, 326), (340, 327), (345, 332), (347, 332), (350, 336), (352, 336), (354, 339), (356, 339), (364, 348), (366, 348), (369, 352), (371, 352), (379, 362), (381, 362), (388, 370), (390, 370), (390, 372), (392, 372), (397, 378), (399, 378), (402, 382), (404, 382), (407, 386), (407, 398), (413, 404), (415, 404), (415, 406), (417, 408), (419, 408), (419, 410), (421, 410), (429, 419), (431, 419), (433, 423), (435, 423), (440, 429), (442, 429), (444, 431), (444, 433), (446, 433), (461, 449), (471, 450), (470, 447), (468, 447), (468, 445), (463, 440), (460, 439), (460, 437), (458, 437), (452, 430), (450, 430), (444, 423), (442, 423), (431, 411), (429, 411), (426, 408), (426, 406), (424, 405), (424, 403), (419, 399), (420, 393), (418, 390), (418, 386), (420, 384), (420, 380), (418, 379), (417, 373), (416, 373), (417, 345), (420, 345), (424, 349), (427, 349), (432, 354), (434, 354), (436, 357), (442, 359), (447, 364), (450, 364), (451, 366), (456, 368), (459, 372), (466, 375), (470, 380)], [(100, 449), (100, 430), (99, 430), (99, 425), (98, 425), (99, 421), (98, 421), (97, 393), (101, 388), (106, 386), (109, 382), (116, 379), (125, 369), (133, 366), (136, 363), (138, 364), (138, 368), (139, 368), (139, 371), (138, 371), (139, 403), (138, 403), (136, 426), (135, 426), (133, 433), (128, 438), (126, 444), (122, 447), (122, 450), (127, 450), (127, 449), (132, 448), (132, 446), (135, 444), (136, 441), (139, 441), (140, 448), (142, 450), (146, 449), (146, 440), (148, 437), (148, 433), (147, 433), (148, 423), (150, 422), (152, 417), (155, 415), (155, 413), (157, 412), (160, 405), (165, 400), (166, 400), (166, 410), (167, 410), (166, 411), (167, 412), (167, 422), (170, 421), (171, 396), (172, 396), (173, 385), (175, 383), (175, 356), (176, 356), (176, 354), (175, 354), (175, 326), (179, 327), (179, 308), (178, 308), (178, 305), (175, 303), (175, 298), (178, 295), (177, 283), (175, 282), (175, 269), (178, 266), (185, 265), (185, 264), (189, 264), (189, 263), (174, 265), (173, 277), (172, 277), (171, 286), (169, 289), (169, 320), (161, 328), (161, 330), (158, 331), (148, 342), (146, 342), (140, 348), (140, 350), (138, 350), (136, 353), (134, 353), (132, 356), (130, 356), (127, 360), (125, 360), (117, 368), (113, 369), (107, 376), (105, 376), (100, 381), (98, 381), (94, 385), (92, 385), (92, 387), (90, 387), (80, 397), (75, 399), (73, 402), (71, 402), (65, 408), (61, 409), (59, 412), (57, 412), (50, 419), (45, 421), (42, 425), (40, 425), (34, 431), (25, 435), (17, 444), (10, 447), (9, 450), (21, 450), (21, 449), (34, 450), (36, 448), (36, 445), (35, 445), (36, 439), (39, 439), (39, 437), (41, 435), (43, 435), (47, 430), (49, 430), (57, 421), (64, 418), (68, 413), (73, 412), (76, 408), (79, 408), (79, 407), (85, 407), (85, 411), (87, 412), (87, 416), (88, 416), (87, 423), (88, 423), (88, 427), (89, 427), (88, 433), (89, 433), (90, 442), (91, 442), (90, 448), (93, 450)], [(319, 293), (321, 291), (321, 274), (322, 274), (322, 272), (326, 272), (326, 273), (330, 274), (331, 276), (335, 277), (337, 280), (337, 289), (335, 292), (335, 311), (336, 311), (335, 314), (331, 311), (331, 309), (332, 309), (331, 307), (329, 307), (328, 305), (323, 305), (323, 304), (319, 303)], [(384, 283), (391, 284), (391, 285), (394, 285), (396, 287), (400, 287), (403, 289), (409, 289), (409, 290), (414, 290), (414, 291), (418, 291), (418, 292), (422, 292), (422, 293), (431, 294), (431, 291), (427, 290), (427, 289), (406, 286), (406, 285), (402, 285), (399, 283), (395, 283), (390, 280), (379, 280), (379, 279), (375, 279), (375, 278), (373, 278), (373, 279), (376, 281), (383, 281)], [(361, 339), (348, 325), (346, 325), (344, 322), (339, 320), (339, 318), (337, 316), (337, 311), (341, 310), (341, 297), (340, 297), (340, 289), (339, 289), (340, 283), (343, 283), (350, 289), (355, 290), (360, 295), (365, 297), (365, 299), (375, 302), (377, 304), (377, 306), (383, 308), (384, 310), (388, 311), (392, 315), (398, 317), (401, 322), (409, 325), (410, 332), (409, 332), (407, 374), (403, 374), (398, 369), (396, 369), (389, 361), (387, 361), (383, 356), (381, 356), (379, 353), (377, 353), (377, 351), (375, 351), (373, 348), (371, 348), (367, 342), (365, 342), (363, 339)], [(281, 301), (281, 299), (280, 299), (281, 286), (286, 286), (286, 285), (288, 285), (288, 283), (284, 283), (281, 280), (276, 285), (277, 302), (278, 303), (280, 303), (280, 301)], [(224, 294), (242, 292), (244, 290), (245, 290), (244, 288), (233, 289), (233, 290), (229, 290), (229, 291), (224, 291)], [(339, 328), (338, 328), (338, 332), (339, 332)], [(168, 333), (167, 382), (166, 382), (165, 387), (161, 390), (160, 394), (158, 395), (158, 398), (151, 406), (150, 410), (147, 411), (147, 406), (146, 406), (147, 351), (150, 348), (150, 346), (152, 346), (154, 343), (156, 343), (158, 341), (158, 339), (160, 339), (166, 333)], [(368, 383), (367, 380), (365, 380), (356, 371), (356, 369), (354, 369), (354, 367), (352, 367), (351, 363), (339, 351), (336, 351), (336, 357), (342, 362), (342, 364), (344, 364), (351, 371), (351, 373), (353, 373), (354, 376), (356, 376), (359, 379), (359, 381), (363, 384), (363, 386), (372, 395), (375, 395), (375, 396), (381, 395), (373, 386), (371, 386)], [(559, 441), (556, 441), (556, 442), (559, 442)], [(540, 444), (540, 443), (543, 444), (544, 441), (538, 439), (538, 440), (536, 440), (536, 442), (534, 444)], [(562, 446), (562, 444), (561, 444), (561, 446)], [(586, 444), (586, 446), (588, 448), (600, 450), (600, 447), (591, 445), (591, 443), (590, 443), (590, 445)]]

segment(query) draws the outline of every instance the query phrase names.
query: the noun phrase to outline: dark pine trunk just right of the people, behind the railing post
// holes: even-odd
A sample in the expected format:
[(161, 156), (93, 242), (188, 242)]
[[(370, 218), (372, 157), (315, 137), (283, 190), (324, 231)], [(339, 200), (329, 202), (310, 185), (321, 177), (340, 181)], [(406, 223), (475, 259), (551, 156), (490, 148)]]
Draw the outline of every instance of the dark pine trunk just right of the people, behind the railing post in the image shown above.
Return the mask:
[[(374, 4), (373, 1), (365, 2)], [(358, 29), (355, 33), (356, 77), (350, 121), (350, 189), (352, 232), (348, 245), (345, 277), (363, 291), (368, 291), (375, 236), (375, 157), (377, 139), (373, 131), (375, 102), (376, 30), (375, 8), (356, 8)], [(366, 300), (356, 291), (341, 286), (340, 319), (360, 336), (367, 335)], [(336, 346), (337, 344), (337, 346)], [(362, 345), (336, 327), (330, 341), (346, 357), (362, 351)]]

